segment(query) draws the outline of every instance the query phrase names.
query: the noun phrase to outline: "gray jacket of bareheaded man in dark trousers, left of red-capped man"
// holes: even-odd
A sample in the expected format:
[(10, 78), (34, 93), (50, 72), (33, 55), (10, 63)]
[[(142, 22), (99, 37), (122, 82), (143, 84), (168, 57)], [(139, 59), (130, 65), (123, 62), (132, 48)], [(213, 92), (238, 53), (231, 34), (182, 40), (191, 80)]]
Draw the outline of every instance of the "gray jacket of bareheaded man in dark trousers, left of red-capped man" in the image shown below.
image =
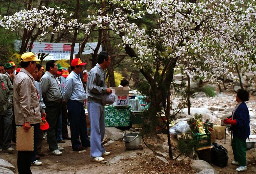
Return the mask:
[(46, 71), (45, 75), (43, 75), (40, 80), (40, 84), (44, 102), (62, 102), (63, 94), (56, 76)]

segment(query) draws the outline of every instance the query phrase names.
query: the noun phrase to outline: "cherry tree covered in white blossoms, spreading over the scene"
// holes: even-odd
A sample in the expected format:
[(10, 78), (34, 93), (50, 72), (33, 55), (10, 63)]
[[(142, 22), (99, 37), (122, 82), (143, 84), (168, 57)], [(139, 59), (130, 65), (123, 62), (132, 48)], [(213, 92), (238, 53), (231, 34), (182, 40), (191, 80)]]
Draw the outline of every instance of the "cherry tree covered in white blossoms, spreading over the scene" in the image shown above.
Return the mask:
[[(95, 1), (101, 3), (101, 1)], [(175, 70), (195, 78), (210, 79), (225, 74), (234, 79), (232, 68), (256, 74), (255, 0), (108, 0), (87, 23), (66, 20), (65, 9), (33, 8), (3, 16), (0, 26), (11, 31), (39, 24), (40, 38), (68, 28), (86, 36), (94, 27), (114, 31), (121, 46), (133, 59), (148, 83), (149, 116), (161, 112), (159, 105), (172, 85)], [(71, 14), (70, 14), (71, 15)], [(147, 20), (148, 23), (140, 21)], [(57, 22), (57, 26), (53, 26)], [(121, 49), (121, 48), (120, 48)], [(81, 50), (80, 50), (81, 51)], [(200, 66), (195, 66), (200, 65)], [(193, 67), (193, 68), (191, 68)], [(168, 110), (168, 109), (165, 109)], [(165, 113), (168, 122), (170, 115)], [(167, 124), (168, 126), (168, 124)], [(155, 126), (151, 126), (154, 132)], [(170, 144), (170, 137), (168, 136)], [(169, 151), (171, 154), (171, 149)]]

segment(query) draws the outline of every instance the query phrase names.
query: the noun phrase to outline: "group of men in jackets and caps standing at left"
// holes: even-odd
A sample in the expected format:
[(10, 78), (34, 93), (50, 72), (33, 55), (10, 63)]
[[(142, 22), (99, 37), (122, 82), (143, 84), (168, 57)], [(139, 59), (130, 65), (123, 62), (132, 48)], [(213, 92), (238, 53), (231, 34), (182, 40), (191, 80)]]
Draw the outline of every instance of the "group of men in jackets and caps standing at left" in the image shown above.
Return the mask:
[[(60, 150), (64, 148), (57, 144), (57, 141), (61, 141), (61, 139), (58, 139), (59, 132), (57, 130), (58, 122), (61, 119), (60, 115), (67, 110), (70, 115), (72, 149), (80, 151), (91, 147), (93, 161), (103, 161), (104, 158), (102, 156), (110, 154), (110, 152), (106, 152), (101, 143), (105, 133), (102, 98), (104, 93), (112, 93), (112, 90), (107, 88), (106, 73), (104, 71), (111, 63), (108, 53), (105, 51), (99, 53), (98, 64), (88, 73), (86, 93), (80, 78), (82, 66), (86, 64), (82, 63), (79, 58), (72, 60), (72, 72), (66, 79), (60, 76), (58, 65), (54, 60), (46, 63), (44, 76), (41, 73), (41, 65), (36, 64), (36, 61), (40, 61), (40, 59), (37, 59), (34, 53), (24, 53), (21, 56), (20, 72), (15, 75), (13, 82), (7, 75), (0, 75), (0, 102), (4, 106), (0, 107), (0, 119), (4, 123), (4, 129), (0, 129), (0, 140), (3, 140), (3, 142), (0, 142), (0, 149), (2, 149), (1, 145), (3, 144), (3, 149), (14, 150), (10, 146), (11, 138), (9, 135), (9, 132), (12, 132), (11, 121), (13, 113), (11, 112), (11, 106), (13, 98), (16, 125), (23, 126), (25, 131), (34, 126), (34, 152), (18, 151), (17, 166), (19, 173), (31, 173), (31, 163), (42, 164), (35, 159), (36, 154), (40, 152), (38, 146), (40, 146), (43, 135), (43, 132), (40, 131), (42, 117), (45, 117), (49, 124), (47, 142), (51, 153), (54, 155), (62, 154)], [(87, 135), (84, 111), (85, 99), (88, 102), (91, 140)], [(2, 131), (4, 132), (3, 134), (1, 133)]]

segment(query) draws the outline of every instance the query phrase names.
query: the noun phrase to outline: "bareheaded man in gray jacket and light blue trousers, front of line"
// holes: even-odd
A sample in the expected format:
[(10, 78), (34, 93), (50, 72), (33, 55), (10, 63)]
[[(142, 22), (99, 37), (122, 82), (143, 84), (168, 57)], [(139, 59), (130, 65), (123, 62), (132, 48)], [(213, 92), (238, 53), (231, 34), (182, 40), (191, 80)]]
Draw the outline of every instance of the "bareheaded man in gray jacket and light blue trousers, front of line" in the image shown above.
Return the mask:
[(88, 115), (91, 123), (91, 157), (96, 162), (105, 160), (102, 156), (110, 154), (101, 143), (105, 134), (105, 110), (102, 98), (104, 93), (112, 93), (112, 90), (107, 88), (104, 71), (110, 63), (109, 54), (106, 51), (100, 52), (98, 63), (88, 74), (86, 86)]

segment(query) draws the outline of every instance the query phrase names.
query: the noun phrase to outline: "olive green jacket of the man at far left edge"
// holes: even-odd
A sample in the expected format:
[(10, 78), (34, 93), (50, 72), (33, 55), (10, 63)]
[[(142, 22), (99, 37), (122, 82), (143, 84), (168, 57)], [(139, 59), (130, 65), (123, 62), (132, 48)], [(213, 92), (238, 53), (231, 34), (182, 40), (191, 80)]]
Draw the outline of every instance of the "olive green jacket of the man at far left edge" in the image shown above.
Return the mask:
[(8, 76), (0, 74), (0, 115), (12, 107), (13, 85)]

